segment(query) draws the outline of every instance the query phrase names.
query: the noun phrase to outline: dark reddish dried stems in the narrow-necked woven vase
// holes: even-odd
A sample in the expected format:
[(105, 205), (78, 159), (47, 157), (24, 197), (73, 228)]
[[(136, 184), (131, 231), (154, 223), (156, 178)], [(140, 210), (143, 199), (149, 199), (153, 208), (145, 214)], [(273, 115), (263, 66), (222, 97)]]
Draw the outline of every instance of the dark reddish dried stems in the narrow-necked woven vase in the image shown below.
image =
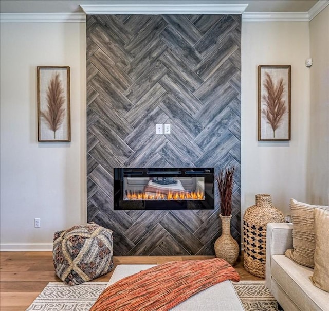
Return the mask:
[(220, 174), (216, 177), (218, 191), (221, 199), (222, 216), (230, 216), (232, 213), (232, 193), (233, 193), (233, 175), (235, 167), (221, 169)]

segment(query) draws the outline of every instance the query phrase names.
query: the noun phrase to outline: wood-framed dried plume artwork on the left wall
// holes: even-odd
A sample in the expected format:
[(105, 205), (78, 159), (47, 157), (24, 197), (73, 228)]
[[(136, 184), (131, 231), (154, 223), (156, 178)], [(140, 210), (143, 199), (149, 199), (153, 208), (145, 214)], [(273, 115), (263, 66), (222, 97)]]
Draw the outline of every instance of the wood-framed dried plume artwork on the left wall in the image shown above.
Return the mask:
[(71, 141), (70, 67), (38, 66), (38, 141)]

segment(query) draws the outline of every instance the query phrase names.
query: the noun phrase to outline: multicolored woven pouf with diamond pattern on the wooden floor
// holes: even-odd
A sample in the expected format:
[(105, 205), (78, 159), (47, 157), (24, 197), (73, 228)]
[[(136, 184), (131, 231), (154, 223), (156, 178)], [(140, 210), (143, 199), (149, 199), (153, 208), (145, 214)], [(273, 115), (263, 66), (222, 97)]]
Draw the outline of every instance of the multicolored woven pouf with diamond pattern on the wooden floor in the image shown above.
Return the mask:
[(78, 285), (111, 271), (112, 243), (112, 231), (93, 222), (55, 232), (52, 257), (57, 276)]

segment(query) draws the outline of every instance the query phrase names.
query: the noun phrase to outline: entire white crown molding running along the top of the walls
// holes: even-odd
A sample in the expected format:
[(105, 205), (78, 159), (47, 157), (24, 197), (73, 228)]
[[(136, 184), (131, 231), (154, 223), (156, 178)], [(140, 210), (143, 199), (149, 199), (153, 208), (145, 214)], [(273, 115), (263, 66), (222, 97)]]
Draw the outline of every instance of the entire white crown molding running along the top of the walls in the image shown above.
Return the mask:
[(0, 13), (0, 23), (85, 23), (86, 14), (242, 14), (243, 22), (309, 22), (329, 0), (308, 12), (244, 12), (247, 4), (80, 5), (85, 13)]

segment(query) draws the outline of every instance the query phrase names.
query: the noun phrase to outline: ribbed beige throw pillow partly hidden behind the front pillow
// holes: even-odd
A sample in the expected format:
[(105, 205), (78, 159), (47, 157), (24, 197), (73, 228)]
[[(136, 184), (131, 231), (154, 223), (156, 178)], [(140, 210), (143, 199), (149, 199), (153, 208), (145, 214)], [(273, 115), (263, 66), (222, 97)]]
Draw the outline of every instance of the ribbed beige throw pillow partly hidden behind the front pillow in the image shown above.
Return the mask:
[(310, 205), (290, 200), (290, 213), (293, 222), (293, 248), (285, 252), (286, 257), (300, 265), (314, 268), (314, 218), (315, 208), (329, 210), (329, 206)]

